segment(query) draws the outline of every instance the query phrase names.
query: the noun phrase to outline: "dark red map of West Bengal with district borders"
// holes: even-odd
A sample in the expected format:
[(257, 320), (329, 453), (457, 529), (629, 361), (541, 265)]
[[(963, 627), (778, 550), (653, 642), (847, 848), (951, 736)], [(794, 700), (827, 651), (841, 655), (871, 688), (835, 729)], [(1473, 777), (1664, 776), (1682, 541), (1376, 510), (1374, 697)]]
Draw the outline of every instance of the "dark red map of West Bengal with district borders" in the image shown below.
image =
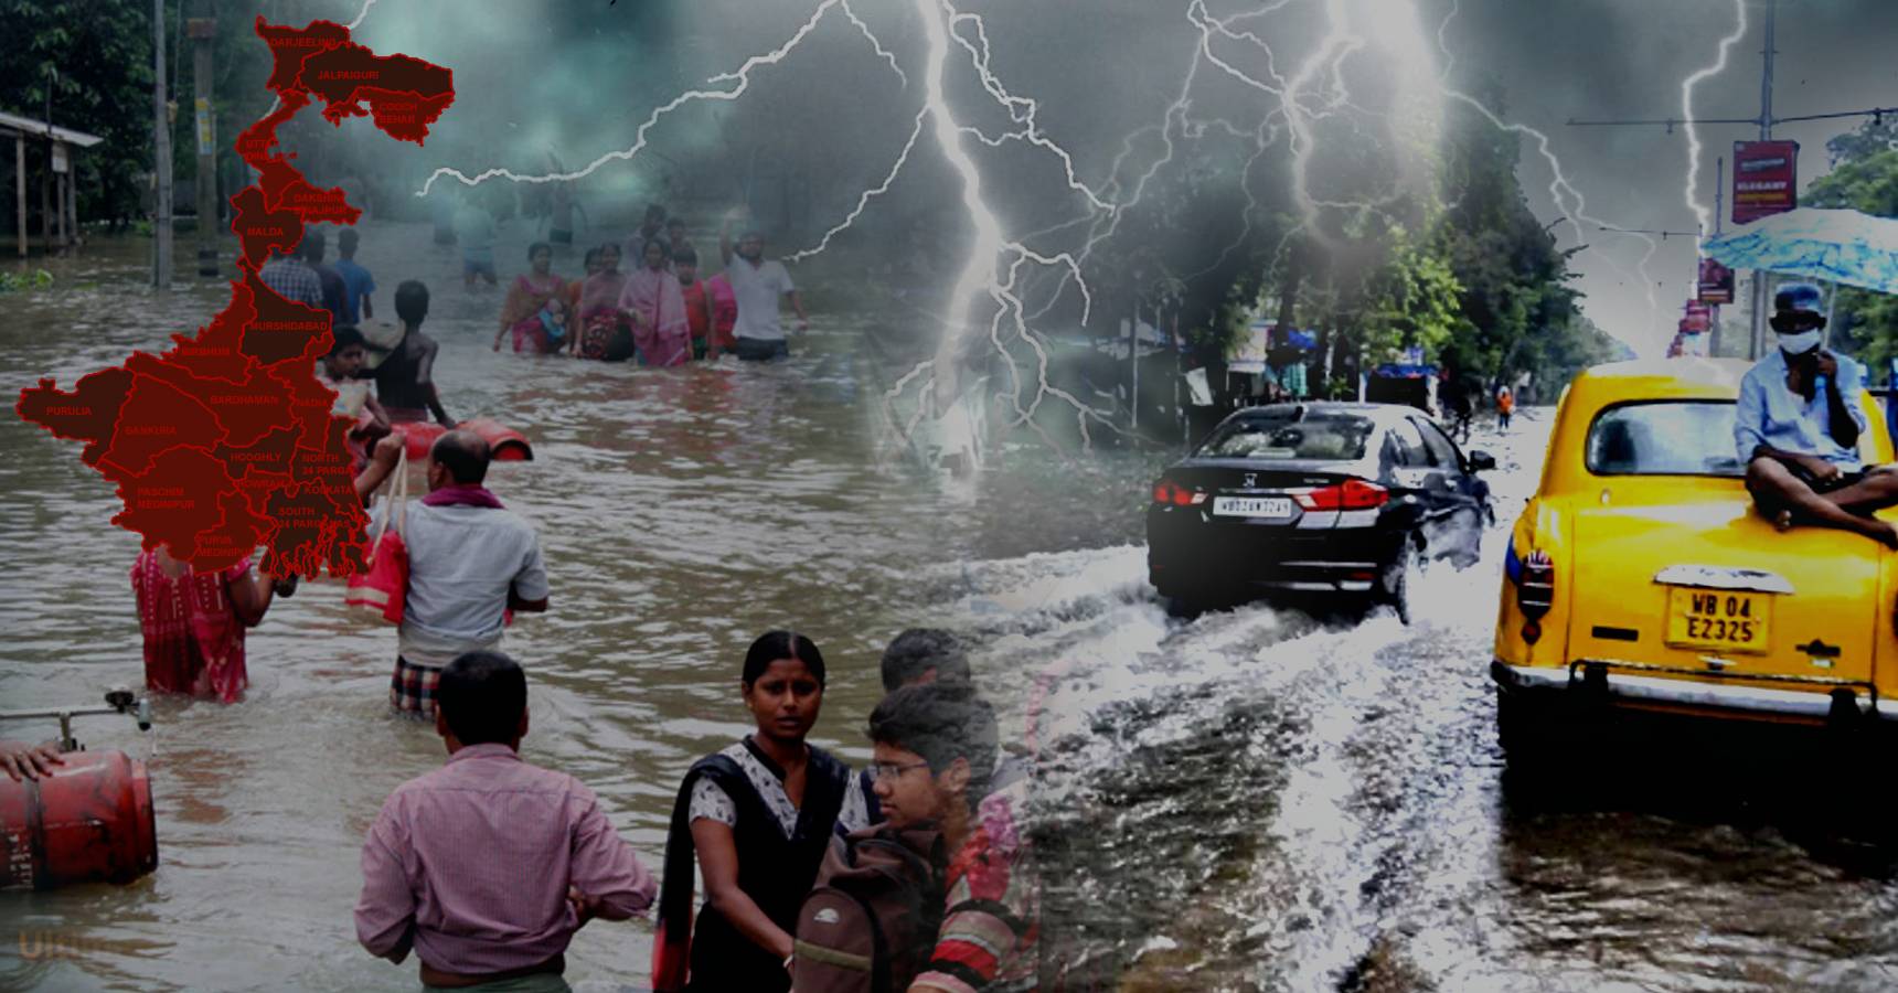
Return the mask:
[(80, 459), (118, 484), (114, 524), (144, 547), (199, 570), (239, 562), (264, 545), (273, 575), (345, 575), (361, 562), (364, 524), (336, 393), (315, 378), (330, 349), (330, 313), (277, 296), (258, 279), (271, 253), (290, 253), (304, 224), (355, 224), (361, 209), (340, 188), (319, 190), (279, 154), (277, 127), (315, 101), (323, 118), (368, 116), (399, 141), (421, 144), (456, 99), (454, 74), (408, 55), (376, 55), (349, 28), (313, 21), (288, 28), (256, 21), (270, 46), (279, 106), (237, 137), (258, 182), (232, 197), (243, 253), (232, 302), (197, 334), (173, 336), (159, 355), (21, 391), (19, 416), (61, 439), (84, 440)]

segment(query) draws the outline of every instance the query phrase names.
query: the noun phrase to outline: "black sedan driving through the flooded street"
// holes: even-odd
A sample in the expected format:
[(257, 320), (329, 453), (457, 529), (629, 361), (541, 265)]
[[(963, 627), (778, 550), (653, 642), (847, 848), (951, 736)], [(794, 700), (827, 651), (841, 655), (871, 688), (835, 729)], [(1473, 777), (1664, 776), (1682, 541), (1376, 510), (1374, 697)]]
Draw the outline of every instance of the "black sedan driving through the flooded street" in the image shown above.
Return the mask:
[(1154, 484), (1146, 575), (1182, 611), (1256, 592), (1346, 594), (1410, 621), (1416, 558), (1477, 562), (1494, 469), (1420, 410), (1239, 410)]

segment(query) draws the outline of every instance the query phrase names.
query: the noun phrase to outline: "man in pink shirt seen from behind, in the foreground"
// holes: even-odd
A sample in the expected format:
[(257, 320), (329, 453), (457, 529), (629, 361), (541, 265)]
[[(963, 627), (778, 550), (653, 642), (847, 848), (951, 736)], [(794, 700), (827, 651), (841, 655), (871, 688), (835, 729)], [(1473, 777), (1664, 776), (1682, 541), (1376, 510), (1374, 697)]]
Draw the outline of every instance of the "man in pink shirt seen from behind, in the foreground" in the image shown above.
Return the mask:
[(427, 989), (566, 991), (566, 949), (594, 917), (624, 921), (659, 889), (592, 790), (520, 759), (528, 676), (471, 651), (442, 668), (435, 729), (448, 763), (399, 786), (363, 843), (357, 938)]

